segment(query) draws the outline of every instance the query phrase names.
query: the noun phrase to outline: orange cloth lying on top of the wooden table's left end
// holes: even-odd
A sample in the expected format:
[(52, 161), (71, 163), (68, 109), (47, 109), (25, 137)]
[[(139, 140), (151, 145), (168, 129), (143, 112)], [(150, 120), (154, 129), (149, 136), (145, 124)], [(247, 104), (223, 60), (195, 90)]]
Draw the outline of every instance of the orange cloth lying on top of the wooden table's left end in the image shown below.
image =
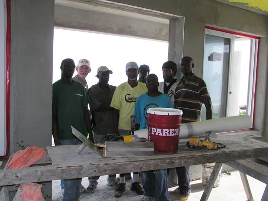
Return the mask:
[(45, 154), (45, 149), (37, 146), (28, 147), (25, 150), (19, 150), (10, 160), (7, 169), (30, 167), (35, 162), (41, 160)]

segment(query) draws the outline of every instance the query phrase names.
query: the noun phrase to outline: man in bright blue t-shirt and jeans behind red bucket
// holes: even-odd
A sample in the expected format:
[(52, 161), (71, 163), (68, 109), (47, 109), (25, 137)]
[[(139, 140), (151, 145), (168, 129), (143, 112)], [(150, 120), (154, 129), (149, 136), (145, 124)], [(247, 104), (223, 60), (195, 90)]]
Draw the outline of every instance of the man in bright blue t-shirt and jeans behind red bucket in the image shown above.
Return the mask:
[[(152, 107), (173, 108), (171, 99), (158, 91), (158, 78), (150, 74), (146, 78), (148, 92), (138, 97), (134, 115), (136, 116), (136, 130), (148, 128), (147, 109)], [(143, 197), (140, 201), (150, 201), (155, 197), (156, 201), (169, 201), (168, 196), (168, 172), (167, 169), (141, 172), (142, 185), (144, 188)]]

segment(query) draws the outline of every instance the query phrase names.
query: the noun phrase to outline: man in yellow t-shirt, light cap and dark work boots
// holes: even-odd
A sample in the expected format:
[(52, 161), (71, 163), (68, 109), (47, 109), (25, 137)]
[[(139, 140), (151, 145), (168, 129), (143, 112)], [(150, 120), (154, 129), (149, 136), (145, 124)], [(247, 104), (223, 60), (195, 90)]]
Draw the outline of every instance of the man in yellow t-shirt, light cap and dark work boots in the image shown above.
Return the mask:
[[(147, 92), (146, 84), (137, 80), (139, 74), (137, 63), (131, 61), (126, 65), (126, 75), (128, 81), (120, 84), (115, 89), (111, 102), (113, 111), (114, 132), (116, 135), (130, 135), (131, 119), (134, 113), (137, 98)], [(142, 195), (144, 190), (138, 182), (138, 172), (133, 173), (131, 188), (138, 195)], [(126, 190), (125, 174), (120, 174), (120, 181), (115, 190), (115, 197), (121, 197)]]

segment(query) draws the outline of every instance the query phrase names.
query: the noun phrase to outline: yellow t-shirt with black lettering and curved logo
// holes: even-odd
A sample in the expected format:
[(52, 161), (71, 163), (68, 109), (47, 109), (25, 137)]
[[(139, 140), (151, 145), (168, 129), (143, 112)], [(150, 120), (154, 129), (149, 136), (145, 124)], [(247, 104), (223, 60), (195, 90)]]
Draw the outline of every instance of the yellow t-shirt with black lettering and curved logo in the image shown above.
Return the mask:
[(130, 116), (134, 113), (135, 102), (140, 95), (145, 93), (147, 93), (146, 84), (140, 81), (134, 88), (128, 82), (116, 87), (111, 107), (120, 110), (118, 129), (131, 130)]

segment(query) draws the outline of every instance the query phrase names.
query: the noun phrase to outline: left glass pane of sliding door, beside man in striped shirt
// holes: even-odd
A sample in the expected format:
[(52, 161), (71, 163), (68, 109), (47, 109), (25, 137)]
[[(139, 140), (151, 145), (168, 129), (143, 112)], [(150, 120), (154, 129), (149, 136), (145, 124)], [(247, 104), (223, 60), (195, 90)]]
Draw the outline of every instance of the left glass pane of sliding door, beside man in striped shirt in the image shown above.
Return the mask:
[[(213, 105), (212, 119), (226, 116), (230, 39), (206, 34), (203, 79)], [(201, 120), (206, 120), (203, 104)]]

